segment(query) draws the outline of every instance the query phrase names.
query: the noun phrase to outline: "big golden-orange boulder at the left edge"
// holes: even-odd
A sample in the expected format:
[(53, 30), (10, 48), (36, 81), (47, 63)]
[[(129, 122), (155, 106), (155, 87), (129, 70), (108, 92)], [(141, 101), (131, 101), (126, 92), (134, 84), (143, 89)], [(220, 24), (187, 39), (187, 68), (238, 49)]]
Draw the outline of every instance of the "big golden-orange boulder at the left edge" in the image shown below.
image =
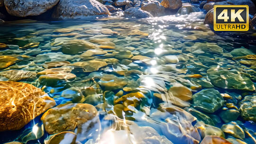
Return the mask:
[(18, 130), (55, 106), (55, 100), (28, 83), (0, 81), (0, 131)]

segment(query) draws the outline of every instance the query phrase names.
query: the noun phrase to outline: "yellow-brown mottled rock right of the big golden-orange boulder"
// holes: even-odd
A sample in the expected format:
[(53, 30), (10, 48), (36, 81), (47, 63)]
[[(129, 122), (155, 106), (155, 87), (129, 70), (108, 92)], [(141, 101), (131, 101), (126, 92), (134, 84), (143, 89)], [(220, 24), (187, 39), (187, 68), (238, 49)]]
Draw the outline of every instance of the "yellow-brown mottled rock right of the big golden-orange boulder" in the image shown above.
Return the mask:
[[(90, 104), (62, 104), (51, 108), (41, 117), (46, 132), (56, 134), (64, 131), (81, 131), (82, 125), (98, 115)], [(80, 130), (79, 130), (80, 129)]]

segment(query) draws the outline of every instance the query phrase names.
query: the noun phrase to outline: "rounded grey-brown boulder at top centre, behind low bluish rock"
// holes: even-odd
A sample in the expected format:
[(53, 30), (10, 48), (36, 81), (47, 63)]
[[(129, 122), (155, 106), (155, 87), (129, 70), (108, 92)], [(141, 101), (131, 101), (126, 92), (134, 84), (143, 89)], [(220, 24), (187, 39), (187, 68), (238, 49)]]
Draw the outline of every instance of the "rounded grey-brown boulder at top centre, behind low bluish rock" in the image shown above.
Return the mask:
[(156, 0), (141, 6), (141, 9), (149, 12), (154, 17), (165, 15), (165, 8)]

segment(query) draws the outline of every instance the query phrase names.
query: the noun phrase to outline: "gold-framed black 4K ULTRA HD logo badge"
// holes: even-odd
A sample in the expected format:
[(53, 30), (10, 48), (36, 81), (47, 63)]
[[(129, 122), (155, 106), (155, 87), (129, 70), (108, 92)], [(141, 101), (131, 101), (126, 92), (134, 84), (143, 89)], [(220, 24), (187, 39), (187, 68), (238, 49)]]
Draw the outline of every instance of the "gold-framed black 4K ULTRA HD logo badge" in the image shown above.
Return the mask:
[(249, 29), (247, 5), (215, 5), (213, 18), (215, 31), (247, 31)]

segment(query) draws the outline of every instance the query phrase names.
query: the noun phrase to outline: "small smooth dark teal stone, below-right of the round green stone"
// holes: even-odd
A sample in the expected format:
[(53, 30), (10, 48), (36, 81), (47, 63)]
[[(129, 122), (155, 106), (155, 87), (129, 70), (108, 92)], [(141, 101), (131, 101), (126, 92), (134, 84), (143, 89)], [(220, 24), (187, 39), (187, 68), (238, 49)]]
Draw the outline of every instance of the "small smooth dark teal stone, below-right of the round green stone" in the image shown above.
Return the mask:
[(240, 113), (236, 109), (222, 110), (219, 117), (225, 122), (235, 121), (239, 117)]

